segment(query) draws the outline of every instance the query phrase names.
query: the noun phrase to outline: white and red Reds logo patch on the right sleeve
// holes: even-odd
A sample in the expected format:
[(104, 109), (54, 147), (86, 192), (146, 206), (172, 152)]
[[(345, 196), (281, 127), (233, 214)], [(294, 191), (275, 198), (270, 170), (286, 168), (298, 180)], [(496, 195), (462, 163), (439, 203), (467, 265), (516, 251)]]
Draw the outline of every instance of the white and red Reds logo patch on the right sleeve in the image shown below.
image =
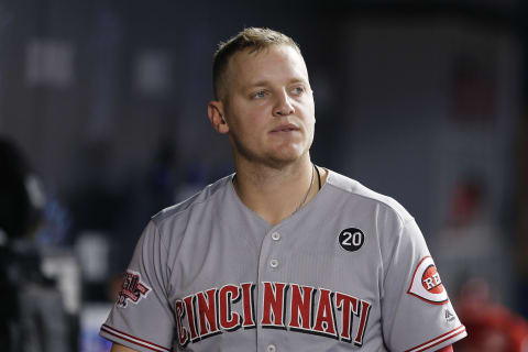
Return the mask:
[(424, 257), (418, 263), (407, 294), (432, 305), (444, 305), (449, 301), (448, 292), (430, 256)]

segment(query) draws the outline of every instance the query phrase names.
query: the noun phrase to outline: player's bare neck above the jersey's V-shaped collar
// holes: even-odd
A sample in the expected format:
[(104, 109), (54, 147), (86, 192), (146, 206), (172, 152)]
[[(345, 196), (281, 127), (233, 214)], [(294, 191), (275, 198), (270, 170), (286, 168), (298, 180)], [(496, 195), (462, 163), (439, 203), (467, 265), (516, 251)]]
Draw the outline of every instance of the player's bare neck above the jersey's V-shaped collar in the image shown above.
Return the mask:
[(248, 208), (275, 226), (317, 194), (317, 174), (311, 182), (312, 172), (308, 153), (282, 167), (237, 163), (235, 189)]

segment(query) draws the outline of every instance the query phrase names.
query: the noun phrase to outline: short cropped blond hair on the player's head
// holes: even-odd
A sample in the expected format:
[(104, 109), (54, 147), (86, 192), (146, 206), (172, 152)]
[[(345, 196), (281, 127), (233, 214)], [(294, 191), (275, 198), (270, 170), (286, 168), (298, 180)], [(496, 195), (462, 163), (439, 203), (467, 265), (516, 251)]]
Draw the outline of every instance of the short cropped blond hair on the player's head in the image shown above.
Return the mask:
[(251, 48), (251, 53), (260, 52), (272, 45), (288, 45), (300, 54), (299, 45), (293, 38), (280, 32), (263, 28), (244, 29), (229, 41), (220, 42), (212, 62), (212, 90), (215, 99), (219, 100), (222, 96), (221, 91), (226, 88), (226, 74), (229, 61), (234, 54), (246, 48)]

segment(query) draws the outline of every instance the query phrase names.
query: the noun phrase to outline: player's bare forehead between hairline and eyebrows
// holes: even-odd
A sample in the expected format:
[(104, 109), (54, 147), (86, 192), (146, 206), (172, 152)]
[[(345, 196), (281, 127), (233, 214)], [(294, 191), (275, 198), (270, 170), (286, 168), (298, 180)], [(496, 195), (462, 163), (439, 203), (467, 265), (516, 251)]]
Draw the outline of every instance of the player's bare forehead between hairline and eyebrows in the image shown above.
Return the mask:
[(305, 80), (308, 70), (302, 56), (289, 45), (271, 45), (261, 51), (246, 48), (233, 55), (229, 63), (229, 80), (237, 86), (261, 81)]

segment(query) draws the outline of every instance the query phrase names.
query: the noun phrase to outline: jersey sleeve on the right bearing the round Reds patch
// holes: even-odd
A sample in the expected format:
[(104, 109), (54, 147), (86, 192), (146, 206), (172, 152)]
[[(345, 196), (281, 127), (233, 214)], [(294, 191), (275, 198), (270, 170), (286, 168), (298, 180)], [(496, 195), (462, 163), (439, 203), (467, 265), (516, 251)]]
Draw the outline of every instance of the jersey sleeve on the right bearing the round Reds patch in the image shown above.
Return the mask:
[(387, 241), (382, 317), (391, 351), (437, 351), (466, 336), (413, 218)]

